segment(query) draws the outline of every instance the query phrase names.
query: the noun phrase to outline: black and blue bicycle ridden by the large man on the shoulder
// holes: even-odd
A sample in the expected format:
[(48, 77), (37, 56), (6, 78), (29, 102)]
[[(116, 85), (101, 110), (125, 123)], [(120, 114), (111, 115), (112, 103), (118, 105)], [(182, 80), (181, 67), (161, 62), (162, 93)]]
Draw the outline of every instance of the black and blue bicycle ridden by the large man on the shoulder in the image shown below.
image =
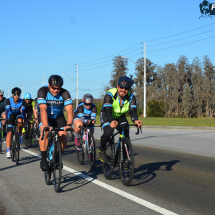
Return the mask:
[[(70, 129), (67, 129), (70, 130)], [(44, 128), (43, 130), (43, 136), (41, 140), (44, 139), (44, 134), (46, 131), (49, 131), (47, 128)], [(45, 183), (47, 185), (50, 184), (51, 180), (51, 174), (53, 172), (53, 180), (54, 180), (54, 190), (56, 193), (59, 192), (60, 190), (60, 184), (61, 184), (61, 177), (62, 177), (62, 155), (61, 155), (61, 145), (59, 142), (59, 136), (58, 132), (63, 131), (63, 128), (54, 128), (52, 129), (52, 135), (49, 138), (49, 143), (48, 143), (48, 165), (49, 168), (47, 171), (45, 171), (44, 176), (45, 176)]]

